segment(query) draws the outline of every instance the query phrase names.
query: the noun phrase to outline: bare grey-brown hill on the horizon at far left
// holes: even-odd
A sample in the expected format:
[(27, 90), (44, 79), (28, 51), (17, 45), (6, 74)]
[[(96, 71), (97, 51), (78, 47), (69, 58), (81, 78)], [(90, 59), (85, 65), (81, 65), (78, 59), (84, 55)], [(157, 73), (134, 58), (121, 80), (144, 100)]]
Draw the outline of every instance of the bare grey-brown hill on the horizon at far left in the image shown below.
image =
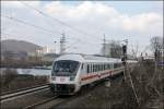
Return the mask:
[(25, 52), (36, 52), (37, 49), (42, 49), (40, 46), (24, 41), (24, 40), (15, 40), (15, 39), (7, 39), (1, 40), (1, 51), (25, 51)]

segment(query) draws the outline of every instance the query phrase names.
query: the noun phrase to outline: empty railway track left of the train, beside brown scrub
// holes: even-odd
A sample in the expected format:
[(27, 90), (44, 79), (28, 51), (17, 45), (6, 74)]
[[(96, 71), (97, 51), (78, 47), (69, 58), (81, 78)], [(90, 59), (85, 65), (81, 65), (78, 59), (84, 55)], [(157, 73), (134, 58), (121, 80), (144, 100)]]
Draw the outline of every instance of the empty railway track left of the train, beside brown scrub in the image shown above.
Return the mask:
[(16, 92), (11, 92), (11, 93), (7, 93), (0, 96), (0, 100), (1, 102), (17, 98), (20, 96), (25, 96), (27, 94), (32, 94), (35, 92), (40, 92), (44, 89), (48, 89), (48, 84), (46, 85), (40, 85), (40, 86), (36, 86), (36, 87), (30, 87), (30, 88), (24, 88), (24, 89), (19, 89)]

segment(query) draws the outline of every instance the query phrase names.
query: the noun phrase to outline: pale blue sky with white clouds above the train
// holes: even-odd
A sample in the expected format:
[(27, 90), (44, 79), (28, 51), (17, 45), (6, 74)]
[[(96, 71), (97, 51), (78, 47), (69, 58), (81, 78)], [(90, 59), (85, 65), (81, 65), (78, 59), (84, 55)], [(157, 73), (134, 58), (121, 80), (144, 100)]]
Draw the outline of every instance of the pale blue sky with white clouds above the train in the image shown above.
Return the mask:
[(163, 36), (163, 2), (2, 1), (1, 32), (2, 39), (27, 40), (52, 49), (56, 40), (58, 51), (65, 33), (67, 50), (81, 53), (99, 53), (105, 34), (108, 40), (128, 39), (130, 49), (138, 45), (142, 51), (151, 37)]

